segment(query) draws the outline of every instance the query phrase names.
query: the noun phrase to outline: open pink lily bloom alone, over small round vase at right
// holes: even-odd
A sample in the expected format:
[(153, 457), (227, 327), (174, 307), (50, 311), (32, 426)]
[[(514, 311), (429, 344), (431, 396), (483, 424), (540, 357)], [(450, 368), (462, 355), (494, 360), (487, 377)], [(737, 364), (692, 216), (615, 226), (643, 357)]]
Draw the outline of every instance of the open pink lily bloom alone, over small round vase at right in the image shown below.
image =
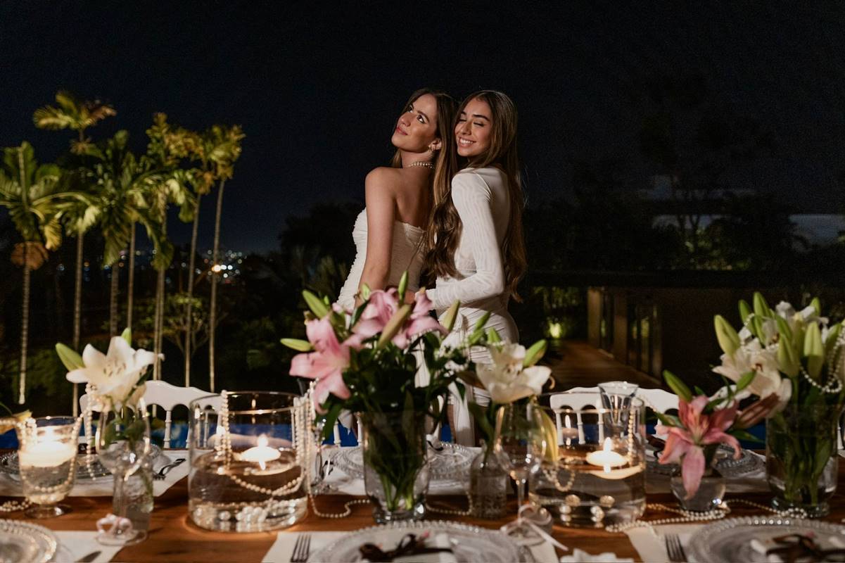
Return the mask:
[(711, 414), (702, 411), (710, 398), (706, 395), (696, 396), (692, 402), (683, 399), (679, 401), (678, 418), (681, 426), (657, 425), (658, 434), (668, 434), (666, 447), (660, 456), (661, 463), (674, 463), (683, 457), (681, 474), (684, 480), (686, 498), (691, 499), (701, 485), (701, 476), (705, 472), (705, 456), (703, 445), (728, 444), (733, 446), (734, 459), (742, 453), (739, 441), (732, 435), (725, 433), (733, 424), (737, 415), (737, 402), (718, 409)]

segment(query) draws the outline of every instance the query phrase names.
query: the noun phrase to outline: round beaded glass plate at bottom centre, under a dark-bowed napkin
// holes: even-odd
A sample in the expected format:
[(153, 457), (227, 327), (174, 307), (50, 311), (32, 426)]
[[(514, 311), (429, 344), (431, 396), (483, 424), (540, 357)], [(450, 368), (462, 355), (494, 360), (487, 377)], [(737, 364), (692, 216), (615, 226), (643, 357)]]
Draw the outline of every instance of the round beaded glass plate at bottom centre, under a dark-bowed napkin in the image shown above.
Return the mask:
[[(428, 532), (428, 546), (433, 546), (432, 538), (447, 534), (456, 561), (466, 563), (515, 563), (520, 560), (520, 549), (503, 533), (470, 526), (458, 522), (393, 522), (384, 526), (365, 527), (350, 532), (342, 538), (313, 553), (308, 561), (319, 563), (354, 563), (362, 561), (360, 548), (363, 544), (377, 544), (381, 549), (395, 549), (407, 533), (417, 536)], [(437, 561), (445, 560), (444, 555), (430, 554), (407, 556), (400, 560)]]

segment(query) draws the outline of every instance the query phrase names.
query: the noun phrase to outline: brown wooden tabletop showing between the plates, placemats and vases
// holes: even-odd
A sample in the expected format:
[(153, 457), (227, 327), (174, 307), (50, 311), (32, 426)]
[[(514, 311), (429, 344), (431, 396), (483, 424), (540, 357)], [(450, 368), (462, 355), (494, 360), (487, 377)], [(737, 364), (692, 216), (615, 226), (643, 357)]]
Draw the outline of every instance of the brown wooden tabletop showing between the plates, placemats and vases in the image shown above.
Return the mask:
[[(842, 461), (842, 460), (840, 460)], [(826, 520), (839, 522), (845, 518), (845, 471), (840, 463), (839, 486), (837, 494), (831, 499), (831, 514)], [(769, 495), (730, 494), (730, 498), (744, 498), (761, 504), (768, 504)], [(317, 499), (320, 511), (340, 512), (343, 502), (355, 497), (347, 495), (324, 495)], [(432, 496), (430, 501), (434, 506), (443, 503), (455, 507), (463, 506), (466, 500), (460, 497)], [(673, 505), (672, 495), (649, 495), (649, 502)], [(95, 529), (95, 521), (111, 511), (112, 499), (109, 497), (68, 497), (65, 503), (73, 507), (69, 514), (37, 521), (37, 523), (53, 530), (91, 530)], [(443, 519), (457, 520), (475, 524), (479, 527), (498, 528), (513, 520), (516, 512), (516, 501), (510, 499), (508, 516), (499, 521), (479, 520), (469, 517), (443, 517)], [(737, 506), (733, 516), (747, 516), (760, 514), (761, 511), (745, 506)], [(657, 511), (646, 511), (646, 520), (657, 520), (672, 517), (673, 514)], [(25, 519), (22, 512), (4, 514), (3, 517)], [(439, 519), (439, 515), (431, 515)], [(372, 509), (368, 505), (352, 506), (352, 515), (341, 519), (325, 519), (309, 513), (303, 522), (287, 528), (292, 532), (303, 531), (342, 531), (356, 530), (361, 527), (373, 526)], [(184, 478), (168, 489), (164, 495), (155, 498), (155, 510), (150, 522), (150, 538), (141, 544), (123, 548), (114, 558), (116, 561), (155, 561), (169, 563), (179, 561), (261, 561), (267, 550), (275, 541), (275, 532), (264, 533), (223, 533), (210, 532), (194, 526), (188, 520), (188, 478)], [(589, 553), (613, 551), (619, 557), (631, 557), (640, 560), (634, 546), (624, 533), (608, 533), (601, 529), (586, 529), (575, 527), (555, 526), (553, 536), (558, 538), (570, 549), (580, 548)]]

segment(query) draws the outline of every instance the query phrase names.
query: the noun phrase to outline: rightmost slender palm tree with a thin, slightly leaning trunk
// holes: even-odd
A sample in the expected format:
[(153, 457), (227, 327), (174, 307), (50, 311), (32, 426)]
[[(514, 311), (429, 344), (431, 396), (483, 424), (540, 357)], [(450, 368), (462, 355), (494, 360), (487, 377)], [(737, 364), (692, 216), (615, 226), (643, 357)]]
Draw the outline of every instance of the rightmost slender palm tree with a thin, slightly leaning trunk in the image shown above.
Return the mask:
[[(214, 370), (215, 370), (215, 331), (217, 328), (217, 282), (219, 280), (219, 272), (215, 267), (220, 260), (220, 218), (223, 212), (223, 188), (226, 187), (226, 180), (232, 178), (234, 172), (235, 161), (237, 157), (241, 156), (241, 140), (245, 137), (241, 128), (237, 125), (232, 127), (225, 127), (222, 125), (215, 125), (210, 128), (207, 133), (215, 141), (219, 147), (215, 150), (216, 156), (212, 158), (215, 161), (216, 173), (220, 187), (217, 189), (217, 210), (215, 213), (214, 224), (214, 250), (211, 254), (211, 298), (209, 310), (209, 385), (210, 391), (214, 392)], [(212, 153), (214, 155), (215, 153)], [(187, 357), (187, 356), (186, 356)]]

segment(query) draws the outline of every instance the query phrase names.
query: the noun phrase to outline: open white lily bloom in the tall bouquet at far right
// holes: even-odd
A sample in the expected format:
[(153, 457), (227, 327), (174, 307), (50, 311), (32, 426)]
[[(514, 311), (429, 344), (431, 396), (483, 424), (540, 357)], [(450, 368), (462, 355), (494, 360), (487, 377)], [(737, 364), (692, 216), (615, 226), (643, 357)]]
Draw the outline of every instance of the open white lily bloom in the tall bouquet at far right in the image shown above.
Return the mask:
[(754, 380), (740, 393), (740, 398), (749, 394), (765, 397), (775, 393), (785, 403), (792, 395), (792, 384), (781, 376), (778, 368), (777, 352), (760, 346), (756, 338), (737, 348), (733, 355), (722, 354), (721, 359), (722, 365), (713, 371), (728, 380), (736, 382), (750, 371), (756, 373)]

